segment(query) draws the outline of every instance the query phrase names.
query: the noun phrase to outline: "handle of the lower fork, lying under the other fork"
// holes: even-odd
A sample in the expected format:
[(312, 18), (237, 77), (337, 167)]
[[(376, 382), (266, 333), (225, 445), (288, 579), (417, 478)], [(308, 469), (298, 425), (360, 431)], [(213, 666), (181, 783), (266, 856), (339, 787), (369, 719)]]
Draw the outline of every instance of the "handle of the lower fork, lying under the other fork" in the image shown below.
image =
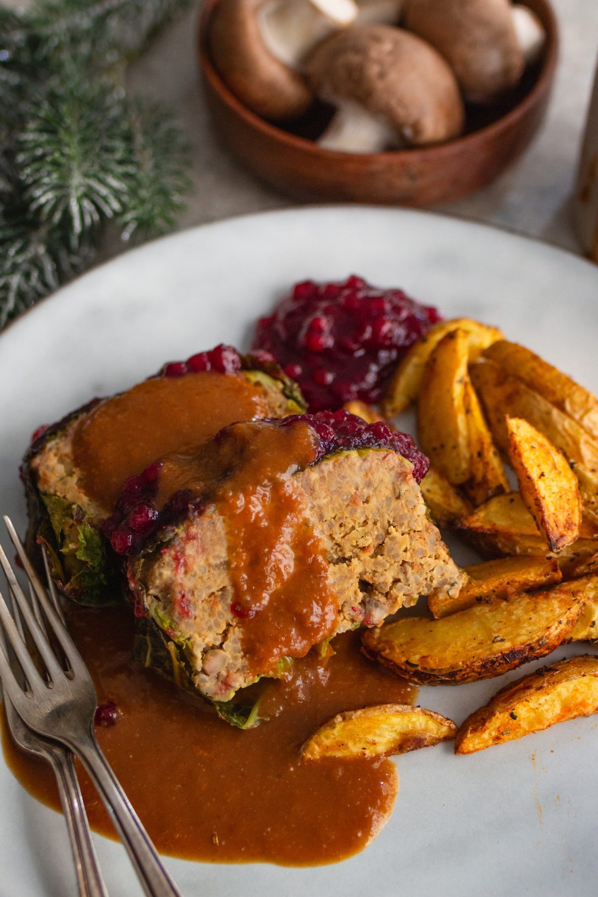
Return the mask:
[(73, 849), (79, 893), (81, 897), (108, 897), (93, 840), (91, 840), (90, 823), (87, 819), (74, 767), (73, 753), (56, 745), (48, 751), (47, 756), (56, 776), (60, 803), (65, 814), (66, 828)]

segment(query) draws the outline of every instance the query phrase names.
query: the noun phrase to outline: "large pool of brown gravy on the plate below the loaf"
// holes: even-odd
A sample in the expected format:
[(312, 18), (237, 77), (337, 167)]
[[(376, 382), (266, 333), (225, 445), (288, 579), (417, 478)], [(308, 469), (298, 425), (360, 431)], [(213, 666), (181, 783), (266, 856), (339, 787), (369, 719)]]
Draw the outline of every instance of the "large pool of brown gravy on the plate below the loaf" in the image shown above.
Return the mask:
[[(98, 700), (115, 701), (122, 712), (114, 726), (97, 728), (100, 745), (163, 853), (212, 862), (329, 863), (365, 847), (390, 814), (392, 762), (299, 759), (300, 745), (335, 713), (413, 701), (410, 685), (360, 655), (359, 633), (338, 636), (333, 657), (310, 652), (295, 661), (290, 680), (268, 682), (260, 710), (271, 718), (244, 732), (134, 662), (127, 607), (73, 607), (68, 615)], [(58, 809), (49, 768), (14, 747), (1, 718), (13, 774)], [(93, 828), (114, 837), (80, 774)]]

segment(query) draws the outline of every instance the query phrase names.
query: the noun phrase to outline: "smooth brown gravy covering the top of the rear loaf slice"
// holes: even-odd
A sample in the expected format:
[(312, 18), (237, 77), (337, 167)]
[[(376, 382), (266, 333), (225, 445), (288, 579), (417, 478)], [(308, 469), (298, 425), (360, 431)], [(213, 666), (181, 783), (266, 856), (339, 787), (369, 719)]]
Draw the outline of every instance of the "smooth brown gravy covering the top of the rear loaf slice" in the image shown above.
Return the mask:
[(128, 476), (158, 457), (190, 454), (235, 421), (268, 414), (264, 388), (214, 371), (144, 380), (101, 402), (74, 433), (85, 492), (112, 509)]

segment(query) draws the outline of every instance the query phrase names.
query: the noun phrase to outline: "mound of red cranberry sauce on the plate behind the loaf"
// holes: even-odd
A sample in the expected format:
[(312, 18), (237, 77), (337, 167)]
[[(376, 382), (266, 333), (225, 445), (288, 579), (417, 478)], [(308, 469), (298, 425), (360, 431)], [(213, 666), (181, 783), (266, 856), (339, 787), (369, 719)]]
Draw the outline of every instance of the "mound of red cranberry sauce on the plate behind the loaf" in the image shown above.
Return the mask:
[(351, 399), (376, 403), (396, 362), (438, 320), (437, 309), (360, 277), (305, 281), (260, 318), (254, 346), (272, 353), (320, 411)]

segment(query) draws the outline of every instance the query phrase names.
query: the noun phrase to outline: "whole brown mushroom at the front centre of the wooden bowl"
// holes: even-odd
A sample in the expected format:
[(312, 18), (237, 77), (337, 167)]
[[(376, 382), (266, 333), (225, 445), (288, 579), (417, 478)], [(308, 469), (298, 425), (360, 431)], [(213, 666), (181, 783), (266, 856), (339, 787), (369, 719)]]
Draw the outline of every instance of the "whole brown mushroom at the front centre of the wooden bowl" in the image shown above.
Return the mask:
[(341, 31), (308, 58), (308, 83), (337, 111), (318, 140), (326, 149), (380, 152), (459, 135), (464, 108), (455, 75), (425, 41), (400, 28)]

